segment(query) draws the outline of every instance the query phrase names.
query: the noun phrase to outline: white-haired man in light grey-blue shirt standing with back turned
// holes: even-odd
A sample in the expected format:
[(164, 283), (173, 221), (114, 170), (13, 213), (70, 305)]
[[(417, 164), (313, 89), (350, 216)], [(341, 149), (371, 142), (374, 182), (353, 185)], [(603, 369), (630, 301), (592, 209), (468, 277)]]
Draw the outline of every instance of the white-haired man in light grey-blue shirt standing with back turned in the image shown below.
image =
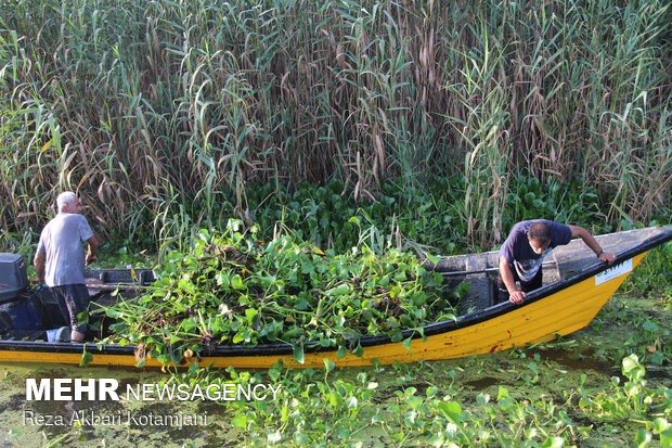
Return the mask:
[[(61, 313), (70, 324), (70, 341), (81, 342), (87, 325), (79, 325), (77, 315), (89, 306), (83, 277), (85, 264), (98, 260), (98, 241), (87, 218), (79, 215), (79, 199), (72, 191), (56, 197), (59, 214), (44, 226), (33, 264), (37, 282), (50, 287), (59, 300)], [(85, 258), (82, 243), (89, 243)]]

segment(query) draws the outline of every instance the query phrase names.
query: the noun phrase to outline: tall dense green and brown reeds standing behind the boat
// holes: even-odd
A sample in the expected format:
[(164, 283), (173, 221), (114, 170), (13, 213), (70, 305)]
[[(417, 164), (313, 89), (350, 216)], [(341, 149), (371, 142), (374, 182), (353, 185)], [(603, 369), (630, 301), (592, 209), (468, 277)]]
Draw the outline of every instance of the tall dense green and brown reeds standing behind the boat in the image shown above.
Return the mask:
[(167, 246), (251, 222), (256, 182), (372, 201), (460, 174), (488, 247), (521, 171), (647, 221), (670, 209), (670, 17), (655, 0), (3, 1), (2, 234), (34, 234), (62, 189), (105, 236)]

